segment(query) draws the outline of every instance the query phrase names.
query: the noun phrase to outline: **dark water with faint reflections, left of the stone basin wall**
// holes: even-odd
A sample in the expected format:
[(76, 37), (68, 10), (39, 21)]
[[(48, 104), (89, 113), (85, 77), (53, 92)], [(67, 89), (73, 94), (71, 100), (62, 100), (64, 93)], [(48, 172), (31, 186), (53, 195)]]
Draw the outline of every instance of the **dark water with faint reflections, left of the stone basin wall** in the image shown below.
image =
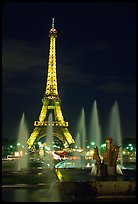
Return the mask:
[(54, 171), (3, 172), (3, 202), (58, 202), (58, 179)]

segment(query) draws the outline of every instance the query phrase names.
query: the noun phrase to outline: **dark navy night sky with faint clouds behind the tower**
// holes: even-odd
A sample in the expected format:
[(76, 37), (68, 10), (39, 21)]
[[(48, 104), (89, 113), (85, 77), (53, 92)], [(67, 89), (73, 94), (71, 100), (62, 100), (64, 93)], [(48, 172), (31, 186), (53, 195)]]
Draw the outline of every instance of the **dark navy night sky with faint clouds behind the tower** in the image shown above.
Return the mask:
[(136, 137), (135, 3), (4, 3), (2, 17), (2, 137), (17, 137), (23, 112), (29, 133), (39, 118), (53, 17), (58, 90), (72, 135), (82, 107), (88, 126), (96, 100), (103, 137), (115, 101), (122, 137)]

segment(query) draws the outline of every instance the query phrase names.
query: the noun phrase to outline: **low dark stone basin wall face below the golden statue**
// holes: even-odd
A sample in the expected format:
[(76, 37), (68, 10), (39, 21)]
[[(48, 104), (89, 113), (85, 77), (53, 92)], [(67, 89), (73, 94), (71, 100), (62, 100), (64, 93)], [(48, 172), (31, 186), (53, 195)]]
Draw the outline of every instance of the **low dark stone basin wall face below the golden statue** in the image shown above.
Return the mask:
[(135, 200), (136, 182), (135, 181), (91, 181), (76, 182), (68, 181), (60, 183), (60, 191), (65, 196), (89, 200)]

